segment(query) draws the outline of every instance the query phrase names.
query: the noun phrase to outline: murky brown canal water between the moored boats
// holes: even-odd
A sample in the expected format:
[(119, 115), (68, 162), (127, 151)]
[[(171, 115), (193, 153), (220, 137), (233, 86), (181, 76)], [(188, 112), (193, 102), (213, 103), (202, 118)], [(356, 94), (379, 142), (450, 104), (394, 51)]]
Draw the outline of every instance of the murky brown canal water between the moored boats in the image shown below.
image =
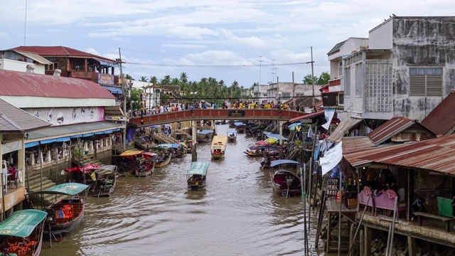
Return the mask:
[[(210, 144), (198, 144), (198, 161), (210, 163), (203, 191), (186, 187), (191, 154), (150, 177), (120, 177), (111, 197), (87, 198), (80, 228), (52, 247), (45, 241), (41, 255), (304, 255), (302, 198), (273, 193), (272, 171), (243, 153), (255, 142), (238, 134), (217, 161)], [(313, 216), (310, 255), (323, 255)]]

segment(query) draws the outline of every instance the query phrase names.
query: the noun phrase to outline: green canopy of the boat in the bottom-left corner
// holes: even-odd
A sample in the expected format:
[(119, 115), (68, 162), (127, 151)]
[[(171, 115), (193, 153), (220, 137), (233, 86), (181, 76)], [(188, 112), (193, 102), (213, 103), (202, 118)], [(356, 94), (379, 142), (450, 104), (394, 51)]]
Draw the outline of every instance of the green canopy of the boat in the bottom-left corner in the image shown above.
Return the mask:
[(48, 215), (43, 210), (18, 210), (0, 223), (0, 235), (28, 237)]

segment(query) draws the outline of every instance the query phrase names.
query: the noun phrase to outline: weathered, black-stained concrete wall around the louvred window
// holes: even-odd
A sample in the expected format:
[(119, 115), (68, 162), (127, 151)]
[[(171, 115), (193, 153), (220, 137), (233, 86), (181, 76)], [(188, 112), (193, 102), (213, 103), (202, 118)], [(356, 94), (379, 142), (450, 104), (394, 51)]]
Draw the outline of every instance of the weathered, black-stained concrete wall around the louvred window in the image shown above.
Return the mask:
[[(455, 17), (397, 17), (392, 20), (394, 115), (422, 121), (451, 90), (455, 90)], [(443, 67), (442, 97), (410, 97), (410, 66)]]

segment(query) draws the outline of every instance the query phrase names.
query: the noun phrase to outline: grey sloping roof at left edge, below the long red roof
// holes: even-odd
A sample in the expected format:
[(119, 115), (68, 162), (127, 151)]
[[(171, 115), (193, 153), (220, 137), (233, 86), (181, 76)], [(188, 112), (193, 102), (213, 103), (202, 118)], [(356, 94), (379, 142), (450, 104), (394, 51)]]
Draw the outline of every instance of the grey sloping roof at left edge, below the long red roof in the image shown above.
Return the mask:
[(34, 129), (50, 127), (50, 125), (50, 123), (10, 105), (4, 100), (0, 100), (0, 132), (28, 132)]

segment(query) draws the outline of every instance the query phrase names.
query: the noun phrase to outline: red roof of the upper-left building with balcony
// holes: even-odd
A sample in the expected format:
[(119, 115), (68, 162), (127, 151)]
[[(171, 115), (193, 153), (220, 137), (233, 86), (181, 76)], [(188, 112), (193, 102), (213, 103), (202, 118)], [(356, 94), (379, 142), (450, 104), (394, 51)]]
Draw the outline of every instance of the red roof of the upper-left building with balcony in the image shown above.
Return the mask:
[(24, 50), (43, 57), (100, 58), (106, 62), (115, 63), (115, 60), (65, 46), (18, 46), (12, 50)]

